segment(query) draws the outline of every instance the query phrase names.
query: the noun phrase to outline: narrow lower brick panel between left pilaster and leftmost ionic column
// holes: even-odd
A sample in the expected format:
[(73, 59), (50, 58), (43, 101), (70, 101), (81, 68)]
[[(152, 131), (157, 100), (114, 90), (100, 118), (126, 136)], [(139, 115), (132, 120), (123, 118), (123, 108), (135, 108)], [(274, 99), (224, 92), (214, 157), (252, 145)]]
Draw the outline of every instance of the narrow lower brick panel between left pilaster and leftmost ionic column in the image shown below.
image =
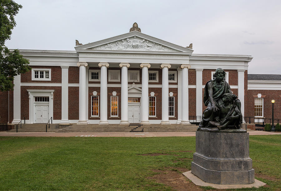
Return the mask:
[(79, 87), (68, 87), (68, 119), (79, 120)]

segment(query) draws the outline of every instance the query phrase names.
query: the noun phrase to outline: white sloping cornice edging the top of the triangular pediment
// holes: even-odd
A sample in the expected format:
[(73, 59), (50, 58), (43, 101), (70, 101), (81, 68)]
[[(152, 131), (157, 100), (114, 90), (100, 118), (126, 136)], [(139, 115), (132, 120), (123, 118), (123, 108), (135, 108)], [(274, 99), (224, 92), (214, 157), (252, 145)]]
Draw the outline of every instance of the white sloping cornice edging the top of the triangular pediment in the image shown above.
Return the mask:
[(121, 40), (121, 39), (124, 39), (124, 38), (129, 38), (129, 37), (133, 37), (133, 36), (137, 36), (137, 37), (141, 37), (141, 38), (144, 38), (144, 39), (148, 39), (150, 41), (154, 41), (154, 42), (157, 42), (159, 44), (163, 44), (163, 45), (165, 45), (167, 47), (174, 48), (176, 50), (180, 50), (180, 51), (184, 51), (184, 52), (189, 52), (189, 53), (193, 52), (192, 49), (181, 47), (181, 46), (175, 45), (173, 43), (170, 43), (170, 42), (167, 42), (167, 41), (163, 41), (163, 40), (161, 40), (159, 38), (151, 37), (149, 35), (146, 35), (144, 33), (137, 32), (137, 31), (128, 32), (128, 33), (121, 34), (121, 35), (118, 35), (118, 36), (115, 36), (115, 37), (111, 37), (111, 38), (103, 39), (103, 40), (100, 40), (100, 41), (91, 42), (91, 43), (87, 43), (87, 44), (84, 44), (84, 45), (76, 46), (75, 50), (81, 50), (81, 49), (87, 49), (87, 48), (91, 48), (91, 47), (96, 47), (96, 46), (100, 46), (102, 44), (105, 44), (107, 42), (117, 41), (117, 40)]

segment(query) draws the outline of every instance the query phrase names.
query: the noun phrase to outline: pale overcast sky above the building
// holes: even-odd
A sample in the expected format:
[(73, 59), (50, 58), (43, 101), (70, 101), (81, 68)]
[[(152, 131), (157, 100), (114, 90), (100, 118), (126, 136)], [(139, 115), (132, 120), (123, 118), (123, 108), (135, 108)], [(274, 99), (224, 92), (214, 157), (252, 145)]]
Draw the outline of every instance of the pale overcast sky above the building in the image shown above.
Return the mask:
[(251, 74), (281, 74), (281, 1), (14, 0), (23, 8), (8, 48), (75, 50), (129, 32), (186, 47), (195, 54), (253, 56)]

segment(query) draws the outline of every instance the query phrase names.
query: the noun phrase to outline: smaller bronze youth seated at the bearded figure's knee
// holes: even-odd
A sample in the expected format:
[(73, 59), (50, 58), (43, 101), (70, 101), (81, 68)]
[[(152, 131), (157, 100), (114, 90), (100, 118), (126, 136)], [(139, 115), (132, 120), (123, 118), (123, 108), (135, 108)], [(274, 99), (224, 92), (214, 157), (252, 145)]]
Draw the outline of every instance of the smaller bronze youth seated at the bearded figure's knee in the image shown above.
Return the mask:
[(226, 93), (223, 95), (223, 104), (219, 105), (219, 116), (216, 121), (209, 121), (209, 126), (223, 129), (239, 129), (242, 123), (242, 113), (240, 108), (235, 105), (236, 95)]

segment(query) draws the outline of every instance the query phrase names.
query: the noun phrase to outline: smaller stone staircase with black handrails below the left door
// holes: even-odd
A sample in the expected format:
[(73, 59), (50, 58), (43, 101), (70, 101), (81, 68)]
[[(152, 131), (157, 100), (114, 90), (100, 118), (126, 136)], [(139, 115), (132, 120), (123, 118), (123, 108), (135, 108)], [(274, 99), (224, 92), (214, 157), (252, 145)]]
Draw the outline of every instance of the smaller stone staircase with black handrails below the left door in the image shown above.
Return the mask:
[[(52, 125), (52, 124), (51, 124)], [(57, 129), (52, 129), (49, 125), (47, 125), (47, 132), (55, 132)], [(34, 124), (22, 124), (22, 128), (20, 125), (15, 129), (12, 129), (7, 132), (46, 132), (46, 123), (34, 123)]]

